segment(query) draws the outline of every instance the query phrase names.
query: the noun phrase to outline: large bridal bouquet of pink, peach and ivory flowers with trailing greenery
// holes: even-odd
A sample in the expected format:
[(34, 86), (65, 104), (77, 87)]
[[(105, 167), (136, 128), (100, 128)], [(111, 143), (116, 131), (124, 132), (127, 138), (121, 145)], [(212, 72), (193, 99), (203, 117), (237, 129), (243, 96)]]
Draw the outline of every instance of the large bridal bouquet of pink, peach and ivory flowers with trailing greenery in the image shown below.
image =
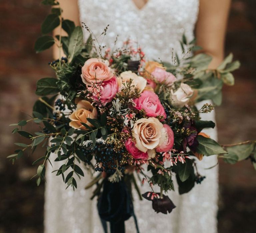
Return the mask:
[[(202, 132), (215, 123), (201, 120), (200, 114), (211, 112), (212, 102), (221, 104), (223, 84), (234, 84), (230, 72), (239, 62), (232, 62), (232, 55), (210, 70), (211, 57), (190, 56), (193, 41), (183, 36), (184, 56), (157, 62), (158, 58), (147, 60), (142, 48), (134, 48), (130, 40), (122, 48), (115, 49), (115, 43), (112, 48), (101, 46), (85, 24), (82, 27), (91, 36), (84, 43), (82, 28), (63, 20), (60, 8), (53, 8), (42, 32), (47, 34), (59, 24), (67, 36), (44, 35), (35, 49), (41, 52), (56, 43), (65, 57), (49, 63), (56, 77), (37, 82), (40, 98), (33, 115), (14, 124), (13, 130), (28, 143), (15, 143), (21, 148), (8, 156), (15, 161), (28, 149), (44, 147), (44, 156), (34, 162), (40, 163), (37, 185), (45, 177), (46, 161), (62, 162), (56, 175), (73, 189), (86, 166), (93, 174), (86, 188), (96, 185), (93, 197), (98, 196), (100, 217), (116, 224), (134, 215), (132, 183), (157, 213), (167, 214), (175, 208), (167, 196), (175, 188), (174, 177), (179, 193), (189, 192), (205, 178), (196, 168), (203, 156), (220, 154), (230, 163), (246, 158), (255, 162), (255, 142), (241, 143), (240, 150), (238, 145), (223, 148)], [(106, 33), (107, 27), (102, 35)], [(203, 100), (212, 102), (197, 109), (195, 104)], [(29, 122), (36, 123), (38, 131), (25, 131)], [(148, 183), (148, 192), (141, 195), (136, 180)]]

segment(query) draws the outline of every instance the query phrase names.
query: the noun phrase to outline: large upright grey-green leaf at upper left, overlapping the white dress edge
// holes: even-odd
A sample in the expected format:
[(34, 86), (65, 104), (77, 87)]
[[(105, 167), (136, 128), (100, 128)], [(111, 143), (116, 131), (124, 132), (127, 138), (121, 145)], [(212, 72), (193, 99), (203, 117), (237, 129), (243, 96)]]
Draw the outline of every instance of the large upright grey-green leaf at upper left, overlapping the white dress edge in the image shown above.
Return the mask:
[(83, 31), (81, 27), (77, 26), (70, 36), (70, 42), (68, 46), (68, 53), (70, 61), (73, 60), (82, 51), (83, 45)]

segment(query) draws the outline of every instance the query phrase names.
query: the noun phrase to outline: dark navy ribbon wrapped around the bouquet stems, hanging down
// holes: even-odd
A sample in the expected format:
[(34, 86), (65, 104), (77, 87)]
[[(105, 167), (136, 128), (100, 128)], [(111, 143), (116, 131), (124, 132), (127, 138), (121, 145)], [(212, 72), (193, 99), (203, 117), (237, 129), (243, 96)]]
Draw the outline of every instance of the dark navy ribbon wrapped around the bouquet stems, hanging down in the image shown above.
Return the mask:
[(131, 216), (134, 217), (139, 233), (131, 195), (123, 179), (115, 183), (105, 179), (97, 207), (105, 233), (107, 233), (106, 221), (110, 222), (111, 233), (125, 233), (124, 222)]

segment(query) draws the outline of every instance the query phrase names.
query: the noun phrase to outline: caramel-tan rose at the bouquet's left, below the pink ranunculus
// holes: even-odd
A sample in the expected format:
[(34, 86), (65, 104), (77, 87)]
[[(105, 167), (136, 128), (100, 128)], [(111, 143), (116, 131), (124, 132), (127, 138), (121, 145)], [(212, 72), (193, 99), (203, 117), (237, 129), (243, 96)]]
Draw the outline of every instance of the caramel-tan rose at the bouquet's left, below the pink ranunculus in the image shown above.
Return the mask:
[(69, 119), (71, 120), (69, 126), (87, 130), (87, 128), (81, 124), (81, 122), (83, 122), (88, 126), (93, 127), (93, 125), (87, 121), (87, 118), (97, 118), (97, 109), (94, 108), (89, 101), (80, 100), (77, 103), (76, 111), (69, 116)]

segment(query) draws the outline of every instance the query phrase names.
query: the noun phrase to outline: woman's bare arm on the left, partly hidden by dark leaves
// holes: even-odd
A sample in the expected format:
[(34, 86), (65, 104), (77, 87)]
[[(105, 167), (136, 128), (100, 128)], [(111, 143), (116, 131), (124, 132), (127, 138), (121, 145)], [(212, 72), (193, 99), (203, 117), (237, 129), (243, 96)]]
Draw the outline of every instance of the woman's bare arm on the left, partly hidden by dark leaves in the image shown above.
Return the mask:
[[(75, 25), (78, 26), (80, 25), (79, 22), (79, 10), (78, 10), (78, 4), (77, 0), (58, 0), (60, 3), (60, 7), (63, 9), (63, 14), (62, 17), (64, 19), (69, 19), (71, 21), (74, 21)], [(62, 35), (66, 35), (66, 32), (62, 30)], [(57, 27), (54, 32), (53, 36), (59, 35), (60, 34), (60, 27)], [(62, 56), (64, 56), (64, 53), (62, 53)], [(54, 45), (53, 47), (53, 57), (54, 59), (59, 58), (59, 48)]]

